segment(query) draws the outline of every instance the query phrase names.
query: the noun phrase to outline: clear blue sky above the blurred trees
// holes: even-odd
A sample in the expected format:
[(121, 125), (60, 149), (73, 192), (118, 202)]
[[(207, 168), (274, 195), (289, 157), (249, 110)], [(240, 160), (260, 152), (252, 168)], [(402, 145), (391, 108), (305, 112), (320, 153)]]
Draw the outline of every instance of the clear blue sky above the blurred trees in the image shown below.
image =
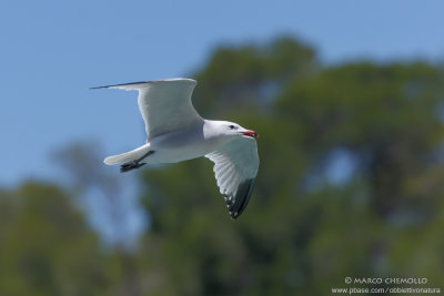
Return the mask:
[[(186, 76), (220, 44), (301, 38), (327, 63), (443, 61), (443, 1), (9, 1), (0, 3), (0, 185), (53, 178), (50, 153), (144, 141), (135, 93), (109, 83)], [(117, 169), (115, 169), (117, 170)]]

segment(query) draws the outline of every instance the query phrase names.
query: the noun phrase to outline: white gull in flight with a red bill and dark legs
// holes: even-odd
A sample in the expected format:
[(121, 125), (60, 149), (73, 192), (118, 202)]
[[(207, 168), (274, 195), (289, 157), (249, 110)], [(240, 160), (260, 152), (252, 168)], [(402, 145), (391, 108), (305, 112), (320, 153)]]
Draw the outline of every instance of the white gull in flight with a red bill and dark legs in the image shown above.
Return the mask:
[(92, 88), (139, 91), (139, 109), (145, 123), (145, 144), (109, 156), (104, 163), (122, 163), (120, 171), (129, 172), (144, 164), (205, 156), (214, 163), (218, 186), (235, 220), (250, 201), (258, 174), (258, 133), (233, 122), (201, 118), (191, 102), (195, 85), (195, 80), (178, 78)]

